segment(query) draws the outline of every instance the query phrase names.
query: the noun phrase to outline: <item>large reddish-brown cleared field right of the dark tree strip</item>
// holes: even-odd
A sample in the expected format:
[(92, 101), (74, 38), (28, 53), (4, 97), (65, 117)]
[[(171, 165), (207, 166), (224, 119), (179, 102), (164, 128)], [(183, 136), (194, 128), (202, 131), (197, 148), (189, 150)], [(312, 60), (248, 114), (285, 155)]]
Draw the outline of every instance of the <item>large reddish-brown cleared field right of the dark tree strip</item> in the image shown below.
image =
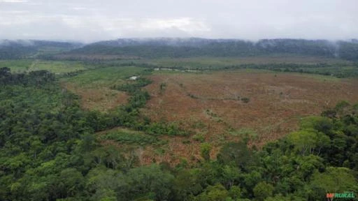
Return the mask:
[[(152, 98), (143, 114), (155, 121), (176, 122), (189, 138), (164, 137), (169, 144), (156, 161), (199, 158), (199, 144), (220, 144), (249, 137), (261, 146), (296, 130), (302, 117), (320, 114), (347, 100), (358, 102), (358, 80), (321, 75), (234, 70), (215, 73), (155, 73)], [(161, 84), (165, 89), (160, 89)], [(246, 99), (248, 98), (248, 99)], [(245, 103), (248, 102), (248, 103)], [(145, 154), (152, 156), (153, 148)], [(158, 158), (159, 157), (159, 158)]]

